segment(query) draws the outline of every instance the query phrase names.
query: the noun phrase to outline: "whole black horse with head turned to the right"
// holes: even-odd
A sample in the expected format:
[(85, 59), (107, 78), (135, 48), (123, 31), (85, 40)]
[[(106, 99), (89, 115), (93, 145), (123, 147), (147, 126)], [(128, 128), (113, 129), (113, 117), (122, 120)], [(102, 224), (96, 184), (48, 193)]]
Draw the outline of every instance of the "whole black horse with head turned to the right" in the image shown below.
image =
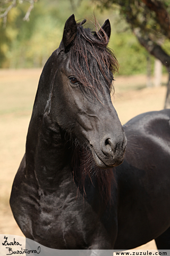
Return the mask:
[(84, 22), (66, 21), (41, 74), (14, 218), (54, 249), (131, 249), (151, 239), (170, 249), (170, 110), (122, 128), (110, 96), (118, 63), (109, 20), (96, 32)]

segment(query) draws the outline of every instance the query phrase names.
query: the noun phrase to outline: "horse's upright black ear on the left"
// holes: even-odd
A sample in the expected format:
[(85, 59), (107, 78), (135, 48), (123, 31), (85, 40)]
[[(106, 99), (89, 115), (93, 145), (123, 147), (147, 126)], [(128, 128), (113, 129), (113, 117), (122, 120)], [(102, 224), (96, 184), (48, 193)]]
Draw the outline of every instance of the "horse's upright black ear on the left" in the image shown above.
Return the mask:
[(74, 14), (72, 14), (69, 19), (65, 22), (64, 33), (63, 33), (63, 44), (66, 49), (67, 46), (71, 44), (77, 35), (77, 23), (75, 21)]

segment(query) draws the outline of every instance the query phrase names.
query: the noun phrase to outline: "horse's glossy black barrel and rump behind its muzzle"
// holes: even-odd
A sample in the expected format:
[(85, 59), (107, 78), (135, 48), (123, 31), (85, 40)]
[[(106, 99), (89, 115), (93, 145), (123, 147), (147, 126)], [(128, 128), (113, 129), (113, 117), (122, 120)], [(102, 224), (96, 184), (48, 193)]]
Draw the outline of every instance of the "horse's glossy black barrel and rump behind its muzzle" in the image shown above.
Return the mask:
[(169, 109), (154, 111), (123, 127), (128, 146), (123, 164), (115, 168), (120, 190), (115, 249), (145, 244), (170, 226), (169, 117)]

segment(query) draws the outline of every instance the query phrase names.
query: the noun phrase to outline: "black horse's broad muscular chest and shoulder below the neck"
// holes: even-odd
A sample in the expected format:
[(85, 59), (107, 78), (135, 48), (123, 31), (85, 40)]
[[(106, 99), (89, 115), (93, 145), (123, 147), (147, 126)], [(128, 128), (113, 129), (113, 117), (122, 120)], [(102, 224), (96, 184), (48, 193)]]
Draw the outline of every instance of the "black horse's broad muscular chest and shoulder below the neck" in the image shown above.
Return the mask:
[(112, 236), (108, 235), (102, 221), (103, 207), (98, 206), (96, 199), (93, 200), (95, 205), (87, 202), (73, 182), (69, 185), (67, 182), (53, 193), (45, 193), (38, 189), (33, 176), (25, 179), (20, 169), (11, 199), (14, 217), (23, 234), (54, 249), (111, 246), (109, 238)]

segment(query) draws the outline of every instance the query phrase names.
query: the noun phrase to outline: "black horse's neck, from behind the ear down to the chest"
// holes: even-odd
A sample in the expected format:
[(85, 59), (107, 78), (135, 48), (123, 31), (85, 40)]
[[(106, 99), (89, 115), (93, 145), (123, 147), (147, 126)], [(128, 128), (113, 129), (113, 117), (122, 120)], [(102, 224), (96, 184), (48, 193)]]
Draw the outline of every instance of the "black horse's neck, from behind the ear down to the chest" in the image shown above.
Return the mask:
[(63, 179), (71, 179), (69, 145), (63, 132), (49, 116), (50, 93), (56, 72), (57, 50), (48, 59), (40, 76), (31, 121), (29, 124), (25, 160), (28, 175), (35, 175), (38, 185), (53, 188)]

